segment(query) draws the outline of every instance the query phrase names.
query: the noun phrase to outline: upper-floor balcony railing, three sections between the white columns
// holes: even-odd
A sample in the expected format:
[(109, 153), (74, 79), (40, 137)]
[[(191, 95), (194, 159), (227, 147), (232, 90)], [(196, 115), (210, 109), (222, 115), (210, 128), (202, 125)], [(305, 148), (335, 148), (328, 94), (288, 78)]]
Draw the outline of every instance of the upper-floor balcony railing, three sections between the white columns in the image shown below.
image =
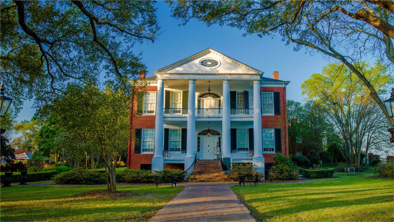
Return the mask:
[[(196, 117), (221, 117), (221, 108), (196, 109)], [(164, 117), (187, 117), (188, 109), (164, 108)], [(253, 109), (230, 109), (231, 117), (253, 117)]]

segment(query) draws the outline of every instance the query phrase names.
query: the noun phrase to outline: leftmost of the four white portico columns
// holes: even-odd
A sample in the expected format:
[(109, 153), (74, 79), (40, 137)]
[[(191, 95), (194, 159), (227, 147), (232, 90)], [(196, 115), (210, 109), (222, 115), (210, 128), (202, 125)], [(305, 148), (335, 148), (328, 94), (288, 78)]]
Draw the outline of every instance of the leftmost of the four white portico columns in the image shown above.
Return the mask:
[(164, 79), (158, 79), (157, 95), (156, 95), (156, 121), (155, 121), (155, 129), (154, 129), (154, 156), (152, 158), (152, 170), (164, 169), (163, 137), (164, 137)]

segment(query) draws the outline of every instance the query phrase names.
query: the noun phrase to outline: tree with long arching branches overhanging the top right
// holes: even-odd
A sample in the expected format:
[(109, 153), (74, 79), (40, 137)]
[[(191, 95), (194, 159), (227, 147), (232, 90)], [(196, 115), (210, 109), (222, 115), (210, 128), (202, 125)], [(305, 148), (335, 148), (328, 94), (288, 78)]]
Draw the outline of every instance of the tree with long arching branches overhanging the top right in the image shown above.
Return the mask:
[(332, 57), (351, 70), (363, 90), (380, 107), (390, 126), (379, 93), (364, 75), (362, 60), (372, 58), (393, 66), (394, 49), (392, 1), (171, 1), (173, 17), (186, 24), (197, 18), (212, 24), (228, 25), (247, 34), (280, 34), (294, 50), (302, 47)]

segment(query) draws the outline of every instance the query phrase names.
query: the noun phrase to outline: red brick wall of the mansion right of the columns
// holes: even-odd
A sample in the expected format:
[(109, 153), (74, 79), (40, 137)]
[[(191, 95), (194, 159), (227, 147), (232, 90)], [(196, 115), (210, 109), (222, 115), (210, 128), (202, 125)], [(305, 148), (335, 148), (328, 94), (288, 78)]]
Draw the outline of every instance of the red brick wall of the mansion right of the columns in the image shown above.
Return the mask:
[[(288, 138), (287, 138), (287, 122), (286, 122), (286, 88), (284, 87), (260, 87), (260, 91), (280, 92), (281, 115), (261, 116), (262, 128), (280, 128), (282, 134), (282, 155), (288, 155)], [(276, 154), (264, 154), (265, 162), (273, 162)]]

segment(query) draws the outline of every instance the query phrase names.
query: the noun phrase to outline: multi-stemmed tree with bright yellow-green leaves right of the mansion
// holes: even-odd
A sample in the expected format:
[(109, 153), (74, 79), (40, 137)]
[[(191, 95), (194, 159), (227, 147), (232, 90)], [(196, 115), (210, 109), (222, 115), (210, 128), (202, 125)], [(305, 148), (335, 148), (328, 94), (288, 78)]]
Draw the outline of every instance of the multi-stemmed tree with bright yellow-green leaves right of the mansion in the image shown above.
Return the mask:
[[(377, 92), (385, 93), (387, 86), (393, 83), (385, 65), (379, 62), (374, 67), (365, 62), (358, 65), (363, 67), (365, 78)], [(329, 63), (323, 67), (322, 74), (313, 74), (301, 88), (304, 95), (321, 104), (327, 122), (341, 135), (343, 157), (349, 164), (359, 166), (362, 144), (368, 142), (368, 132), (376, 132), (374, 121), (376, 115), (381, 114), (365, 90), (366, 86), (344, 65)]]

